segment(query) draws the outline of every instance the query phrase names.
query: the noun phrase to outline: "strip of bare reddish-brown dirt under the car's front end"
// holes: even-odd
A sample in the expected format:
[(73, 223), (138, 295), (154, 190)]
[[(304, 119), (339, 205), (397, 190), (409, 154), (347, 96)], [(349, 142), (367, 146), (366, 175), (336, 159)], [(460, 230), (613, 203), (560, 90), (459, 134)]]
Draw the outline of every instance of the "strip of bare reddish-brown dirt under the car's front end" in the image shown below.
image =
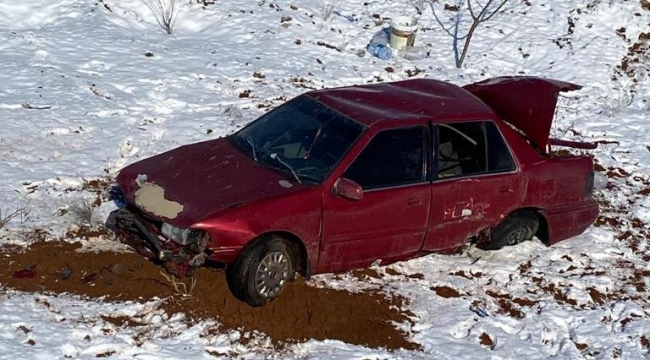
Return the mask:
[(183, 312), (193, 320), (215, 318), (226, 328), (265, 333), (276, 344), (338, 339), (370, 347), (418, 348), (392, 325), (409, 321), (410, 313), (396, 310), (403, 304), (399, 297), (310, 287), (298, 279), (272, 303), (251, 308), (231, 295), (223, 272), (199, 269), (191, 297), (184, 297), (161, 274), (162, 267), (134, 253), (77, 252), (79, 247), (79, 243), (38, 242), (27, 249), (2, 248), (0, 283), (22, 291), (107, 300), (164, 298), (161, 308), (170, 314)]

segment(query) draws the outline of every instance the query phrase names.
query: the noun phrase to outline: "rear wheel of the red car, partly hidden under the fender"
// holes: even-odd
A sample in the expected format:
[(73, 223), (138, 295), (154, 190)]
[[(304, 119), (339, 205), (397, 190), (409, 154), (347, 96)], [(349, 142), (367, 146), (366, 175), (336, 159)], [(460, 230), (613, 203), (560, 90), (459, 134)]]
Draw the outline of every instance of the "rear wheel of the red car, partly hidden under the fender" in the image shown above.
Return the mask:
[(490, 241), (479, 244), (483, 250), (499, 250), (530, 240), (537, 233), (539, 220), (530, 210), (516, 212), (505, 218), (490, 233)]

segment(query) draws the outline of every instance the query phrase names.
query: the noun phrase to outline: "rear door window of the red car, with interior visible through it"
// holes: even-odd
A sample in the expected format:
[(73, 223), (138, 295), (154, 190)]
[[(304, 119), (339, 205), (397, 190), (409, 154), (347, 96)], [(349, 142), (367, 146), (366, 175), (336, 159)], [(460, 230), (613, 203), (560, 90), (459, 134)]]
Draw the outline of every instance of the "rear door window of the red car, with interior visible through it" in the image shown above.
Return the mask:
[(512, 154), (490, 121), (438, 125), (438, 178), (512, 171)]

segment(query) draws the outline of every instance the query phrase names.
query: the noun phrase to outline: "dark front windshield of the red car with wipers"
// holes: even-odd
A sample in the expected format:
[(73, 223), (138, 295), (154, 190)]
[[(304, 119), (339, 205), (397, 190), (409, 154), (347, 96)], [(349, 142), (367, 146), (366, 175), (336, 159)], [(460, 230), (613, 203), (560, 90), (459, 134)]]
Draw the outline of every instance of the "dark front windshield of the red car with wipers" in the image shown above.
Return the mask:
[(301, 183), (320, 183), (363, 129), (320, 102), (300, 96), (263, 115), (234, 138), (256, 162)]

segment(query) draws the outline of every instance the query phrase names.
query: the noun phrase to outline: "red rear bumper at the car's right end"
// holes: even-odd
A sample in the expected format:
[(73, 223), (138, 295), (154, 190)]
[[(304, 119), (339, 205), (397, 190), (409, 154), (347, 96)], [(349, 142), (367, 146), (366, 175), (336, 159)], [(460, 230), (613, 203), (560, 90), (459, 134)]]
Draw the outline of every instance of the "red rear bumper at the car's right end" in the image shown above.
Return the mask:
[(548, 223), (549, 244), (555, 244), (582, 234), (598, 218), (598, 203), (594, 199), (566, 204), (541, 213)]

